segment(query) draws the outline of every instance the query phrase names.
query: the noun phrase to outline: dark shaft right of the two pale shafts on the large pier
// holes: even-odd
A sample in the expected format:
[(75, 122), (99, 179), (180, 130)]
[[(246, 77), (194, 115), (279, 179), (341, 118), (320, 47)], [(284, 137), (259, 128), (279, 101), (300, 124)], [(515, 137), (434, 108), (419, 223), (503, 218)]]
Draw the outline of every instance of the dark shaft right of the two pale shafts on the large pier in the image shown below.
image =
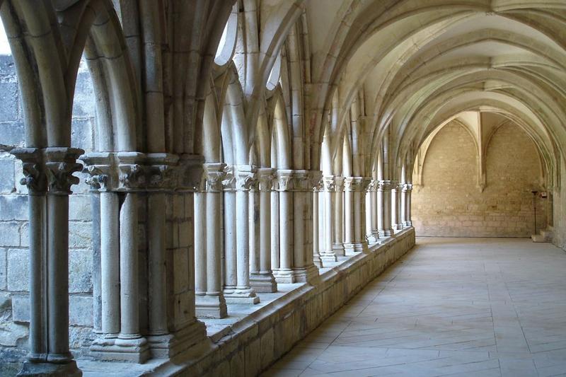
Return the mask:
[(165, 195), (149, 195), (148, 233), (149, 233), (149, 333), (164, 335), (167, 329), (167, 290), (165, 266)]

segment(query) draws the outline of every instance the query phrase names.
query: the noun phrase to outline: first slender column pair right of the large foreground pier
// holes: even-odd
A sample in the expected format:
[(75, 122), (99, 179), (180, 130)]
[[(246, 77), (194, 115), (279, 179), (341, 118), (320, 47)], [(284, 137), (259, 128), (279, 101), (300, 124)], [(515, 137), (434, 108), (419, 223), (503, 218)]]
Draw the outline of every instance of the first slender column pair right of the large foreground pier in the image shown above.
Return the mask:
[[(204, 248), (204, 253), (197, 250), (195, 242), (195, 276), (196, 282), (200, 286), (197, 289), (195, 284), (195, 309), (200, 317), (205, 318), (224, 318), (228, 315), (226, 309), (226, 300), (221, 291), (221, 229), (220, 229), (220, 215), (221, 215), (221, 192), (222, 181), (226, 173), (224, 163), (205, 163), (204, 164), (204, 179), (205, 179), (205, 192), (199, 196), (204, 196), (204, 205), (197, 209), (197, 200), (195, 200), (195, 219), (198, 215), (197, 211), (202, 211), (204, 215), (205, 236), (204, 240), (199, 245)], [(202, 220), (201, 220), (202, 221)], [(195, 221), (195, 228), (198, 224)], [(195, 230), (195, 239), (197, 231)], [(202, 260), (199, 260), (201, 258)], [(197, 266), (199, 273), (197, 273)], [(200, 276), (200, 279), (198, 278)]]

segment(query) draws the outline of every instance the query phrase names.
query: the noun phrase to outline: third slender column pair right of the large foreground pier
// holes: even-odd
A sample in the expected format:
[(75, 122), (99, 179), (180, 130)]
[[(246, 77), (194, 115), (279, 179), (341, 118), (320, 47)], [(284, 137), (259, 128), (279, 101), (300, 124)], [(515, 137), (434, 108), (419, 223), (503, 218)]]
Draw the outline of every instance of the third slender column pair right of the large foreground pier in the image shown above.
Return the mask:
[(257, 184), (250, 191), (250, 284), (256, 292), (272, 293), (277, 292), (271, 269), (271, 192), (275, 175), (271, 168), (260, 168), (256, 175)]

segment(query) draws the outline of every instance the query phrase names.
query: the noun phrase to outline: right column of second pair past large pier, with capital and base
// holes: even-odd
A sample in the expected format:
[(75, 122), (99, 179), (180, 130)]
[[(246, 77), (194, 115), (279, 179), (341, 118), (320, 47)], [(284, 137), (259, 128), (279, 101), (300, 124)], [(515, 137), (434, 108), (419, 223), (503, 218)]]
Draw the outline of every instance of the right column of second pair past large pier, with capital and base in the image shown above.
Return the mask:
[(249, 192), (255, 167), (234, 166), (236, 178), (236, 289), (224, 292), (227, 303), (258, 303), (260, 298), (250, 286)]

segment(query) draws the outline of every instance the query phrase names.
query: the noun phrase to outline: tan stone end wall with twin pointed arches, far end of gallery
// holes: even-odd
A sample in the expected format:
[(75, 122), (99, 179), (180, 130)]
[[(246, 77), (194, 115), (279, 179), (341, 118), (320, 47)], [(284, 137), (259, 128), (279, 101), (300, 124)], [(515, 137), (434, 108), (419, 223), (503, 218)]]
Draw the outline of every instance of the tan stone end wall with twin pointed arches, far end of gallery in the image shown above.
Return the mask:
[[(422, 186), (412, 192), (417, 236), (531, 236), (531, 190), (543, 190), (533, 141), (516, 124), (507, 122), (497, 129), (487, 146), (483, 192), (477, 154), (470, 134), (454, 122), (434, 137), (424, 160)], [(547, 204), (537, 199), (537, 229), (546, 226)]]

